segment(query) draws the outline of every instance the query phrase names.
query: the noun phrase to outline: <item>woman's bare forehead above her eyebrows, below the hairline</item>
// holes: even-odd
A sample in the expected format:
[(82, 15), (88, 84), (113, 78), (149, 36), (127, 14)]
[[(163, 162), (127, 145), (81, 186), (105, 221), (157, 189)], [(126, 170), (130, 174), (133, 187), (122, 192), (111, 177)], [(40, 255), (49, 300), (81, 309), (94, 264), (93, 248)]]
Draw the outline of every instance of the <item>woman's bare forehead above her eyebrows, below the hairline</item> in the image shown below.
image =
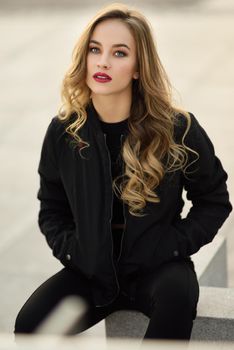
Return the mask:
[(125, 43), (129, 47), (135, 46), (135, 40), (130, 29), (119, 19), (108, 19), (98, 23), (91, 39), (99, 41), (102, 45)]

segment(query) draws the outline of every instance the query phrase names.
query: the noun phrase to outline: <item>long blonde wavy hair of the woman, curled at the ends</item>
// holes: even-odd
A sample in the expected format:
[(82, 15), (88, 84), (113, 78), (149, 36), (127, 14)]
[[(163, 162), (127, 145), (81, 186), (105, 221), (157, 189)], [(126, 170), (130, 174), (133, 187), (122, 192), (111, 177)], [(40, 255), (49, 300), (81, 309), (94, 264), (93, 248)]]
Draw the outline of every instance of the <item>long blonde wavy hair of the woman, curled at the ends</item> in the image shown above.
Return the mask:
[[(136, 42), (139, 71), (139, 79), (132, 82), (129, 134), (122, 148), (125, 171), (113, 180), (113, 190), (128, 204), (132, 215), (144, 216), (147, 201), (160, 202), (156, 189), (165, 173), (185, 171), (188, 151), (194, 152), (184, 144), (191, 124), (190, 116), (172, 106), (171, 85), (157, 54), (151, 26), (144, 15), (132, 7), (113, 3), (101, 9), (90, 21), (73, 50), (72, 64), (63, 80), (59, 119), (70, 121), (66, 131), (73, 141), (83, 147), (89, 146), (78, 133), (87, 120), (86, 106), (91, 98), (86, 84), (85, 58), (95, 27), (107, 19), (119, 19), (130, 29)], [(181, 144), (173, 138), (179, 113), (187, 121)], [(76, 117), (71, 121), (72, 115)], [(119, 182), (120, 178), (122, 181)]]

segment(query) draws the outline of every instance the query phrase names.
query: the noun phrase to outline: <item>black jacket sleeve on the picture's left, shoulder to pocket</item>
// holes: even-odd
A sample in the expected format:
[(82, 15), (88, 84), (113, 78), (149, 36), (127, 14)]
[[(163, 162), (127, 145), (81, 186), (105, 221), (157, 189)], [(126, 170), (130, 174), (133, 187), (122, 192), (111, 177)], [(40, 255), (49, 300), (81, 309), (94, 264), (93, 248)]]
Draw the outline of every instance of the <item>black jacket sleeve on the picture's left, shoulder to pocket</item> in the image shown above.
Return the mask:
[(38, 173), (40, 200), (38, 224), (53, 255), (65, 266), (76, 256), (75, 223), (58, 168), (59, 125), (53, 118), (44, 137)]

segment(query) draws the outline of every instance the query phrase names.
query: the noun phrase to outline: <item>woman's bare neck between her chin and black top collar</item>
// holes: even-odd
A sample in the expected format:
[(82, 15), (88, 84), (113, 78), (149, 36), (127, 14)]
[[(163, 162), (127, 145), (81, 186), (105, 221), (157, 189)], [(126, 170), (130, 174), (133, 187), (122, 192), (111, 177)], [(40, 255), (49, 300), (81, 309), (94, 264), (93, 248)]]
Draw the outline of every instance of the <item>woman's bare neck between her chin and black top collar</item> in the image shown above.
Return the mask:
[(92, 102), (100, 119), (107, 123), (117, 123), (129, 117), (131, 98), (113, 96), (92, 96)]

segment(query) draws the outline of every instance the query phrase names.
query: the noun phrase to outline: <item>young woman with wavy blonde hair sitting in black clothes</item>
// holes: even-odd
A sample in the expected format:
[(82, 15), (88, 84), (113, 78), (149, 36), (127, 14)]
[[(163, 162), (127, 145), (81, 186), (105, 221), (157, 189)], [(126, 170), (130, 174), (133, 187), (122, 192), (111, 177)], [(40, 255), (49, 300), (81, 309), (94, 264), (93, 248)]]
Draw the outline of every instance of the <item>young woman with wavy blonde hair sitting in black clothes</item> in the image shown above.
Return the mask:
[(190, 255), (232, 207), (209, 137), (172, 105), (146, 18), (123, 4), (102, 9), (75, 46), (62, 97), (38, 198), (40, 229), (64, 268), (25, 303), (15, 333), (34, 332), (76, 294), (89, 305), (77, 333), (136, 309), (150, 319), (145, 338), (189, 339), (199, 296)]

